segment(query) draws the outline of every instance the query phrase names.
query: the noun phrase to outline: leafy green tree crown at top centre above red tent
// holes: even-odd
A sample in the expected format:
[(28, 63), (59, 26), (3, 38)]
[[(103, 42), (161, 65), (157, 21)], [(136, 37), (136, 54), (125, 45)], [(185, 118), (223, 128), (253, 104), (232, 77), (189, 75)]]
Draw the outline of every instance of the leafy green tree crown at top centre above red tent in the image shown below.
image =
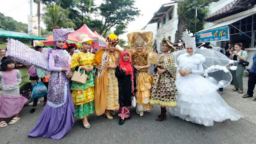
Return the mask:
[(94, 0), (41, 1), (44, 4), (59, 4), (65, 10), (69, 10), (68, 18), (76, 24), (76, 28), (85, 23), (90, 29), (97, 29), (104, 36), (114, 28), (118, 35), (125, 33), (127, 24), (134, 20), (135, 16), (140, 15), (140, 11), (134, 6), (134, 0), (102, 0), (103, 3), (98, 7)]

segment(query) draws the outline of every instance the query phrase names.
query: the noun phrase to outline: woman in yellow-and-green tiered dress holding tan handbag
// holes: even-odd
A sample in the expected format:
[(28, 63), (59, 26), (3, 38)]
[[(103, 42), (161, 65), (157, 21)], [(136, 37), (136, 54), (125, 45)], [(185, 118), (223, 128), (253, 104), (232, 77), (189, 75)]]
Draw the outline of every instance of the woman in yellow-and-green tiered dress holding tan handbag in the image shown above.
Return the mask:
[(83, 120), (84, 128), (89, 129), (90, 124), (87, 116), (94, 113), (94, 82), (95, 76), (93, 72), (93, 64), (95, 55), (89, 52), (92, 45), (92, 39), (88, 35), (80, 36), (80, 43), (83, 46), (82, 52), (73, 54), (70, 68), (72, 70), (78, 70), (81, 67), (80, 72), (84, 70), (88, 74), (88, 78), (85, 84), (78, 84), (72, 82), (72, 98), (75, 104), (75, 117)]

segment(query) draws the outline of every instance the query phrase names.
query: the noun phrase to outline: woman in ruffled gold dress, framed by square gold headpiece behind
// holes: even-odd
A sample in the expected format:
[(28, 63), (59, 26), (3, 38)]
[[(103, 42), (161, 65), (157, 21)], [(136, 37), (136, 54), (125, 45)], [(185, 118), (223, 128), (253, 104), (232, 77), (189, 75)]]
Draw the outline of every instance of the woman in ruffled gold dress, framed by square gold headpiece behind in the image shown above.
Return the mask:
[(143, 116), (143, 111), (150, 111), (150, 89), (152, 87), (154, 77), (148, 72), (150, 61), (148, 53), (143, 51), (145, 41), (141, 36), (138, 36), (134, 42), (136, 52), (132, 52), (132, 63), (136, 68), (136, 112)]

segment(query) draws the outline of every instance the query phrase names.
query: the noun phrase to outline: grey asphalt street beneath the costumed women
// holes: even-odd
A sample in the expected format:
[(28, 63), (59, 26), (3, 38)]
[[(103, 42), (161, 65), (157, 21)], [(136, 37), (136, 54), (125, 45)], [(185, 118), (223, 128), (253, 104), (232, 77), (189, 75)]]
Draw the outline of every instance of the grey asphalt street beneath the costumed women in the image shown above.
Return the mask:
[[(244, 92), (247, 90), (247, 81), (248, 77), (244, 77)], [(41, 102), (35, 113), (29, 113), (32, 107), (26, 106), (20, 112), (17, 124), (0, 129), (0, 143), (256, 143), (256, 102), (252, 97), (243, 99), (242, 94), (231, 92), (232, 88), (234, 87), (224, 88), (222, 97), (229, 106), (244, 114), (244, 118), (236, 122), (226, 120), (214, 123), (212, 127), (205, 127), (172, 117), (170, 113), (165, 121), (157, 122), (155, 119), (160, 113), (160, 107), (154, 106), (150, 113), (145, 113), (142, 117), (136, 114), (135, 108), (131, 108), (132, 117), (124, 125), (118, 124), (117, 115), (113, 120), (91, 115), (88, 118), (90, 129), (84, 129), (81, 120), (76, 119), (72, 130), (61, 140), (29, 138), (28, 133), (44, 108)]]

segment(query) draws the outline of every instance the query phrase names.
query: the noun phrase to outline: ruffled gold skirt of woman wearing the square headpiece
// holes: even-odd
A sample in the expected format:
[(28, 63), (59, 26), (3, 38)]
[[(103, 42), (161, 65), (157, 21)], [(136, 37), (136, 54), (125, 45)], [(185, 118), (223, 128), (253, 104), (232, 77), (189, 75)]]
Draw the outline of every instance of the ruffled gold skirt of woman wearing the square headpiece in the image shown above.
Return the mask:
[(149, 72), (136, 73), (136, 99), (137, 111), (150, 111), (150, 89), (152, 87), (154, 77)]

